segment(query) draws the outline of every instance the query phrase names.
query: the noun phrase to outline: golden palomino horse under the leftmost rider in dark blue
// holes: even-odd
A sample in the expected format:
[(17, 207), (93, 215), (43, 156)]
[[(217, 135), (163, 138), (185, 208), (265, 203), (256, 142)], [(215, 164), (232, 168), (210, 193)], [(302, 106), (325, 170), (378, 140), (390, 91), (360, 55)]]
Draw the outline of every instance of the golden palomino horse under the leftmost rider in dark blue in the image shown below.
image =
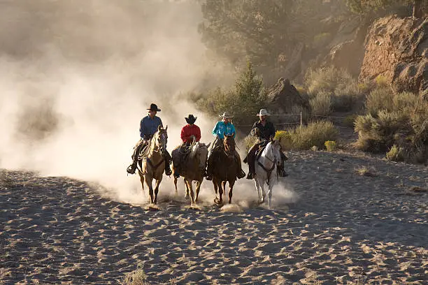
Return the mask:
[[(144, 182), (147, 184), (150, 203), (155, 205), (157, 202), (157, 193), (159, 192), (159, 184), (162, 181), (165, 171), (165, 159), (162, 154), (166, 151), (166, 142), (168, 140), (167, 129), (168, 126), (165, 129), (162, 126), (158, 126), (157, 132), (153, 135), (148, 147), (145, 149), (143, 160), (138, 168), (141, 187), (143, 187), (144, 191)], [(153, 195), (153, 180), (156, 180), (155, 195)]]

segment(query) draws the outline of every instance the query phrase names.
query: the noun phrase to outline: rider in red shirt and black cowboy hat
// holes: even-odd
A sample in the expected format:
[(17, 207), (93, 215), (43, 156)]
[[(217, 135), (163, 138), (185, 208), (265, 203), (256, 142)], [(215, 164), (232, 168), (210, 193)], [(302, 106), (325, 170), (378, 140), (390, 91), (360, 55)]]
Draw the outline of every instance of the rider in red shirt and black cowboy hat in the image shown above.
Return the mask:
[(183, 143), (172, 152), (174, 177), (176, 178), (180, 177), (180, 165), (183, 163), (186, 147), (192, 145), (193, 141), (199, 142), (201, 139), (201, 129), (194, 124), (197, 117), (189, 115), (185, 119), (187, 125), (183, 126), (183, 129), (181, 129), (181, 140), (183, 140)]

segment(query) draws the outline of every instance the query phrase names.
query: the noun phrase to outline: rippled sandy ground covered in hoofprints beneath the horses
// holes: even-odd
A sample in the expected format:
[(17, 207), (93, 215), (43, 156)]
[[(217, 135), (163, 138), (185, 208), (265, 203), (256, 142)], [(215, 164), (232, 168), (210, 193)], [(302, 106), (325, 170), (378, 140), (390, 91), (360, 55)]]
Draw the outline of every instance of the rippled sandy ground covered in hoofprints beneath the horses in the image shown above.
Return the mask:
[(424, 284), (428, 168), (287, 155), (273, 210), (252, 206), (245, 179), (225, 210), (204, 182), (200, 210), (180, 185), (179, 198), (161, 188), (154, 212), (86, 182), (2, 170), (0, 284), (118, 284), (137, 268), (148, 284)]

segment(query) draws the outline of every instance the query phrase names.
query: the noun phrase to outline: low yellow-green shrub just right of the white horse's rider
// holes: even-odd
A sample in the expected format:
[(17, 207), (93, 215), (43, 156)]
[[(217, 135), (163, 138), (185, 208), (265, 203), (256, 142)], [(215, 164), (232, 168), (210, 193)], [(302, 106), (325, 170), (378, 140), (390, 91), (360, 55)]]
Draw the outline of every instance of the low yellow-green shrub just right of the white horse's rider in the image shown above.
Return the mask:
[(324, 148), (326, 140), (336, 140), (338, 131), (331, 122), (319, 121), (299, 126), (290, 132), (294, 149)]

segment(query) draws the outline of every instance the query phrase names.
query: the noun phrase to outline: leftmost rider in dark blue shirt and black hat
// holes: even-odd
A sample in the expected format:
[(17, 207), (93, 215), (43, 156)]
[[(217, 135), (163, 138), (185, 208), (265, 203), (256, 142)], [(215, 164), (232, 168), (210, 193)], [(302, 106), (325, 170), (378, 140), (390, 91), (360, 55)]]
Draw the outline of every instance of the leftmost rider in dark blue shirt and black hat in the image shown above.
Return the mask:
[[(150, 104), (148, 110), (148, 115), (143, 117), (140, 122), (140, 140), (138, 140), (136, 146), (134, 147), (134, 154), (132, 154), (132, 164), (128, 166), (127, 173), (134, 174), (137, 163), (138, 163), (138, 154), (148, 145), (152, 136), (157, 132), (158, 126), (162, 126), (162, 119), (156, 116), (157, 112), (160, 112), (160, 109), (157, 108), (156, 104)], [(165, 152), (162, 154), (165, 159), (165, 174), (171, 175), (171, 155), (165, 149)]]

